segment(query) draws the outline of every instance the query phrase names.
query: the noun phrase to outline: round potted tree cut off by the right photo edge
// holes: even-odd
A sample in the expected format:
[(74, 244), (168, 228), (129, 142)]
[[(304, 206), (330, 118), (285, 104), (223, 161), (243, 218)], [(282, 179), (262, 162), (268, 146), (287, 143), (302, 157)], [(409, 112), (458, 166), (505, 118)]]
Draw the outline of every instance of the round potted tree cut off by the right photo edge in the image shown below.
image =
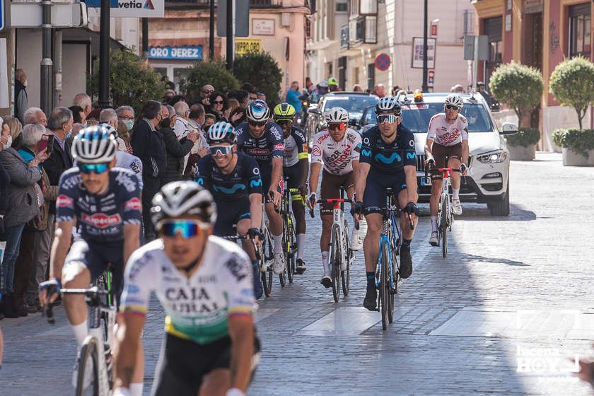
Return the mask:
[(551, 74), (550, 91), (561, 105), (576, 110), (582, 129), (583, 116), (594, 101), (594, 64), (583, 57), (565, 59)]

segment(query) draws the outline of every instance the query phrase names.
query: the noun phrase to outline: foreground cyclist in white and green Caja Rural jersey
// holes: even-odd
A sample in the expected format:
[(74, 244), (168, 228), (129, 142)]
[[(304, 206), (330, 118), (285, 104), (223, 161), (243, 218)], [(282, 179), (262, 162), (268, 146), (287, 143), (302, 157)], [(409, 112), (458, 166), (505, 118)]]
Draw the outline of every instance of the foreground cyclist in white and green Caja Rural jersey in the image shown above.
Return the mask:
[(136, 250), (126, 267), (115, 396), (129, 395), (151, 292), (167, 315), (152, 395), (245, 396), (260, 349), (250, 259), (211, 235), (216, 206), (197, 183), (170, 182), (152, 203), (161, 238)]

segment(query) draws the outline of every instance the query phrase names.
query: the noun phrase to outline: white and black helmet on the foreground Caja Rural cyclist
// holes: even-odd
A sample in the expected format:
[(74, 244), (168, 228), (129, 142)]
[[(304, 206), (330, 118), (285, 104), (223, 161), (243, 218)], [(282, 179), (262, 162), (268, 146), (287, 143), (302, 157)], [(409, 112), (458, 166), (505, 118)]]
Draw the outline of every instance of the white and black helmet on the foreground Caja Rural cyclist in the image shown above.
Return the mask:
[(214, 224), (216, 204), (209, 190), (197, 182), (170, 182), (161, 187), (153, 197), (151, 219), (157, 227), (159, 221), (177, 216), (199, 216), (202, 221)]

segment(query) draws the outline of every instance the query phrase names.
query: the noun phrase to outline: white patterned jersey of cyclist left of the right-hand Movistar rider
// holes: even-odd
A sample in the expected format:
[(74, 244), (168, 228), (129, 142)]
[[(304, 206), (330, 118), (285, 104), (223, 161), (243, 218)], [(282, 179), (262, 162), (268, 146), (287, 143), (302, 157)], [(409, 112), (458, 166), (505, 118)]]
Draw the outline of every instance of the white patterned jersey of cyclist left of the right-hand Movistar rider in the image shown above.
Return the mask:
[(346, 175), (353, 170), (352, 161), (359, 161), (361, 135), (347, 128), (342, 141), (334, 141), (327, 129), (313, 138), (311, 162), (323, 163), (324, 169), (333, 175)]

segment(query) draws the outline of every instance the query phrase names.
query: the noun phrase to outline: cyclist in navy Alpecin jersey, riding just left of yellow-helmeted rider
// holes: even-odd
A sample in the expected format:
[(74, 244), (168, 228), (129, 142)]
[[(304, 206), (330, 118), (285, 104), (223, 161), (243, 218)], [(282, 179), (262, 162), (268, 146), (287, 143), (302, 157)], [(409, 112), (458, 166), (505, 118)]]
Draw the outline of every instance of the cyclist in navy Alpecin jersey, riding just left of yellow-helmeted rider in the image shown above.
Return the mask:
[(284, 144), (281, 128), (270, 118), (270, 109), (264, 100), (254, 100), (245, 109), (248, 122), (235, 127), (237, 146), (240, 151), (254, 158), (260, 167), (262, 192), (266, 204), (264, 209), (270, 222), (270, 233), (274, 240), (275, 274), (282, 274), (285, 268), (283, 254), (283, 222), (274, 206), (280, 206), (280, 183), (283, 178)]

